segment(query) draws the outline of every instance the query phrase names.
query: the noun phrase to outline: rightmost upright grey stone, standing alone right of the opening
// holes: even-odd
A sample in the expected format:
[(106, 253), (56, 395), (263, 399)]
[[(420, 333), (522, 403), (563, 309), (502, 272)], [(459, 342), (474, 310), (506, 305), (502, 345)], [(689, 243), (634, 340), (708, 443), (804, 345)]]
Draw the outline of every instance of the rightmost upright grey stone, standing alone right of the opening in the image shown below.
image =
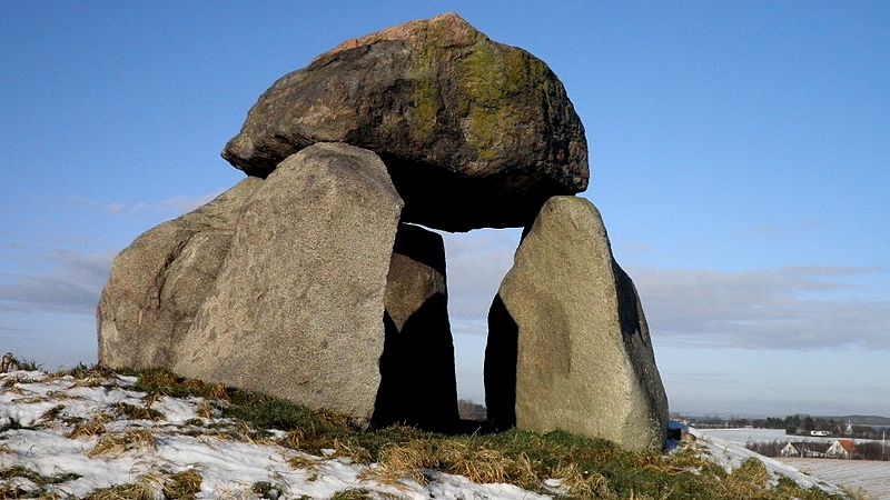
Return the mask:
[[(544, 204), (493, 312), (498, 316), (490, 318), (494, 352), (486, 352), (492, 414), (510, 417), (510, 408), (503, 408), (510, 398), (498, 396), (510, 388), (498, 382), (508, 381), (513, 369), (518, 428), (562, 429), (629, 449), (663, 446), (668, 401), (649, 327), (593, 204), (574, 197)], [(511, 338), (517, 344), (511, 346)], [(502, 363), (487, 366), (495, 353), (492, 359)], [(511, 356), (513, 367), (503, 362)]]

